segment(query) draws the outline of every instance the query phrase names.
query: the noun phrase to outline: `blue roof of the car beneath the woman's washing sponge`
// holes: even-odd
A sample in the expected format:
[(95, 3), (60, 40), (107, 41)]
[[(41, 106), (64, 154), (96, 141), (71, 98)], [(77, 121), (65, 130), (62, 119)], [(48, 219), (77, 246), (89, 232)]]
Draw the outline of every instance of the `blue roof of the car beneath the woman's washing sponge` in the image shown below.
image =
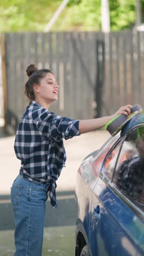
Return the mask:
[(123, 136), (128, 130), (138, 124), (144, 124), (144, 114), (136, 115), (136, 117), (132, 118), (122, 129), (121, 136)]

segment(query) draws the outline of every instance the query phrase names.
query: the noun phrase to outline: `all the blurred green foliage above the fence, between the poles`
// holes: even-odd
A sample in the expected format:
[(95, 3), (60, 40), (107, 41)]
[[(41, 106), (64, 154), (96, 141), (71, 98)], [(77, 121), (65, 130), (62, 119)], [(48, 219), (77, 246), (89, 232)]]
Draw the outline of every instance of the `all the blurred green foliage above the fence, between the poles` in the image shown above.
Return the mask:
[[(52, 30), (100, 30), (100, 0), (70, 0)], [(135, 24), (136, 0), (109, 0), (111, 30)], [(0, 0), (1, 31), (43, 31), (62, 0)], [(144, 10), (144, 0), (142, 13)]]

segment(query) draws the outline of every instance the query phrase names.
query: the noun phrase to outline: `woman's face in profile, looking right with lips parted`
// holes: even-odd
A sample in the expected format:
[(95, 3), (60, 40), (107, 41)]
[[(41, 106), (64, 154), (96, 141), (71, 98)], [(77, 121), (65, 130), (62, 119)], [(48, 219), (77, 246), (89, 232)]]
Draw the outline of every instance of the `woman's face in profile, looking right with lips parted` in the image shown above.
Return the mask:
[(40, 81), (40, 84), (35, 85), (37, 97), (45, 100), (47, 103), (52, 103), (58, 98), (58, 88), (56, 78), (51, 73), (46, 73), (45, 77)]

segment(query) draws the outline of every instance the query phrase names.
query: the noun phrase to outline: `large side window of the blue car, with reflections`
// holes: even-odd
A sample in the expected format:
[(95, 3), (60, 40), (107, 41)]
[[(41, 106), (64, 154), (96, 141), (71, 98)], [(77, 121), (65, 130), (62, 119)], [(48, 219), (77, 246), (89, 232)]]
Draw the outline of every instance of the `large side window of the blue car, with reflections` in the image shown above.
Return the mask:
[(144, 126), (132, 130), (125, 137), (113, 183), (144, 211)]

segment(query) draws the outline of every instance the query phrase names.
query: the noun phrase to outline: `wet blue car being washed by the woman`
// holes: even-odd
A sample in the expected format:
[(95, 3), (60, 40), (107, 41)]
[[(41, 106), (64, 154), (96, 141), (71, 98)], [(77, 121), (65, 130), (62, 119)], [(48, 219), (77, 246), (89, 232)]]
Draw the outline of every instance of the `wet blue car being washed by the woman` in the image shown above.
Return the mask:
[(83, 160), (75, 192), (75, 256), (144, 255), (144, 114)]

